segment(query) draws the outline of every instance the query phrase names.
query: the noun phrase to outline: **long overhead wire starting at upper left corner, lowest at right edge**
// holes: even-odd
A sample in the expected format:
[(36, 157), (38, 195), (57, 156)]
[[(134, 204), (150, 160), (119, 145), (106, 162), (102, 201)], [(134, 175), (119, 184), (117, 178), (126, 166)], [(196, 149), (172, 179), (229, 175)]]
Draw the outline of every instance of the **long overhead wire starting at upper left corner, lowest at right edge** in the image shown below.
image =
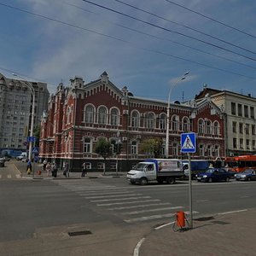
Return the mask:
[[(7, 8), (10, 8), (10, 9), (18, 10), (18, 11), (20, 11), (20, 12), (24, 12), (24, 13), (29, 14), (29, 15), (34, 15), (34, 16), (37, 16), (37, 17), (40, 17), (40, 18), (43, 18), (43, 19), (46, 19), (46, 20), (54, 21), (54, 22), (56, 22), (56, 23), (60, 23), (61, 25), (71, 26), (71, 27), (73, 27), (73, 28), (81, 29), (81, 30), (86, 31), (86, 32), (95, 33), (95, 34), (100, 35), (100, 36), (102, 36), (102, 37), (106, 37), (106, 38), (110, 38), (110, 39), (113, 39), (113, 40), (117, 40), (117, 41), (122, 42), (122, 43), (133, 44), (133, 45), (134, 45), (134, 43), (129, 42), (129, 41), (125, 41), (125, 40), (123, 40), (123, 39), (121, 39), (121, 38), (116, 38), (116, 37), (109, 36), (109, 35), (104, 34), (104, 33), (101, 33), (101, 32), (96, 32), (96, 31), (93, 31), (93, 30), (90, 30), (90, 29), (87, 29), (87, 28), (84, 28), (84, 27), (81, 27), (81, 26), (76, 26), (76, 25), (67, 23), (67, 22), (65, 22), (65, 21), (56, 20), (56, 19), (50, 18), (50, 17), (45, 16), (45, 15), (38, 15), (38, 14), (33, 13), (33, 12), (31, 12), (31, 11), (27, 11), (27, 10), (24, 10), (24, 9), (15, 8), (14, 6), (10, 6), (10, 5), (7, 5), (7, 4), (4, 4), (4, 3), (0, 3), (0, 5), (2, 5), (2, 6), (4, 6), (4, 7), (7, 7)], [(225, 70), (225, 69), (222, 69), (222, 68), (219, 68), (219, 67), (212, 67), (212, 66), (210, 66), (210, 65), (203, 64), (203, 63), (198, 62), (198, 61), (191, 61), (191, 60), (186, 59), (186, 58), (183, 58), (183, 57), (179, 57), (179, 56), (176, 56), (176, 55), (167, 54), (167, 53), (161, 52), (161, 51), (159, 51), (159, 50), (146, 49), (146, 48), (137, 47), (137, 46), (136, 46), (136, 47), (133, 47), (133, 48), (143, 49), (144, 51), (153, 52), (153, 53), (159, 54), (159, 55), (166, 55), (166, 56), (169, 56), (169, 57), (178, 59), (178, 60), (182, 60), (182, 61), (187, 61), (187, 62), (190, 62), (190, 63), (194, 63), (194, 64), (200, 65), (200, 66), (202, 66), (202, 67), (209, 67), (209, 68), (212, 68), (212, 69), (215, 69), (215, 70), (218, 70), (218, 71), (222, 71), (222, 72), (224, 72), (224, 73), (235, 74), (235, 75), (237, 75), (237, 76), (245, 77), (245, 78), (247, 78), (247, 79), (253, 79), (253, 80), (256, 79), (256, 78), (249, 77), (249, 76), (246, 76), (246, 75), (241, 74), (241, 73), (235, 73), (235, 72), (232, 72), (232, 71), (229, 71), (229, 70)]]

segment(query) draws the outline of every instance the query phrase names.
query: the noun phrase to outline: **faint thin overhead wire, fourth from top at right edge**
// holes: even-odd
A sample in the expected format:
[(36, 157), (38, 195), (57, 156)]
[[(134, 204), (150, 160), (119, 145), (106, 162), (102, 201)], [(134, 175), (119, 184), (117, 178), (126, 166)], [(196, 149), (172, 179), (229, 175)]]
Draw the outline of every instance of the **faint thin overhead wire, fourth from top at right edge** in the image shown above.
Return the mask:
[[(82, 8), (82, 7), (80, 7), (80, 6), (77, 6), (77, 5), (74, 5), (74, 4), (72, 4), (72, 3), (66, 3), (66, 4), (67, 4), (67, 5), (70, 5), (70, 6), (73, 6), (74, 8), (83, 10), (84, 12), (89, 12), (89, 13), (92, 14), (92, 15), (99, 15), (99, 14), (93, 12), (93, 11), (90, 11), (90, 10), (88, 10), (88, 9), (84, 9), (84, 8)], [(106, 20), (106, 19), (105, 19), (105, 20)], [(149, 34), (149, 33), (147, 33), (147, 32), (139, 31), (139, 30), (134, 29), (134, 28), (131, 28), (131, 27), (129, 27), (129, 26), (120, 25), (120, 24), (118, 24), (118, 23), (115, 23), (115, 22), (112, 22), (112, 21), (109, 21), (109, 20), (107, 20), (107, 21), (108, 21), (108, 23), (110, 23), (110, 24), (112, 24), (112, 25), (114, 25), (114, 26), (119, 26), (119, 27), (125, 28), (125, 29), (127, 29), (127, 30), (130, 30), (131, 32), (137, 32), (137, 33), (146, 35), (146, 36), (148, 36), (148, 37), (150, 37), (150, 38), (156, 38), (156, 39), (161, 40), (161, 41), (172, 42), (173, 44), (178, 44), (178, 45), (181, 45), (181, 46), (183, 46), (183, 47), (185, 47), (185, 48), (188, 48), (188, 49), (194, 49), (194, 50), (196, 50), (196, 51), (198, 51), (198, 52), (201, 52), (201, 53), (203, 53), (203, 54), (212, 55), (212, 56), (214, 56), (214, 57), (217, 57), (217, 58), (222, 59), (222, 60), (225, 60), (225, 61), (230, 61), (230, 62), (236, 63), (236, 64), (241, 65), (241, 66), (244, 66), (244, 67), (250, 67), (250, 68), (256, 69), (256, 67), (253, 67), (253, 66), (250, 66), (250, 65), (241, 63), (241, 62), (239, 62), (239, 61), (231, 60), (231, 59), (229, 59), (229, 58), (227, 58), (227, 57), (224, 57), (224, 56), (221, 56), (221, 55), (214, 55), (214, 54), (209, 53), (209, 52), (207, 52), (207, 51), (205, 51), (205, 50), (197, 49), (197, 48), (192, 47), (192, 46), (189, 46), (189, 45), (187, 45), (187, 44), (182, 44), (182, 43), (179, 43), (179, 42), (177, 42), (177, 41), (173, 41), (173, 40), (171, 40), (171, 39), (169, 39), (169, 38), (160, 38), (160, 37), (158, 37), (158, 36), (154, 36), (154, 35)]]

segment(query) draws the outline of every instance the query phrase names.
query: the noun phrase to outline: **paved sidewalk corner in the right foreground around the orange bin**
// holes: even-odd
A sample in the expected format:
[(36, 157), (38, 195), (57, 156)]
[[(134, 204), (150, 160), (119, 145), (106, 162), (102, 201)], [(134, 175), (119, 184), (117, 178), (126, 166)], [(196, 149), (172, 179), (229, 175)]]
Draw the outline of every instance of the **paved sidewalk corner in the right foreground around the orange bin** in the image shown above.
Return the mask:
[[(256, 255), (256, 209), (198, 218), (193, 230), (174, 231), (173, 224), (152, 230), (135, 249), (138, 256)], [(173, 219), (174, 221), (174, 219)]]

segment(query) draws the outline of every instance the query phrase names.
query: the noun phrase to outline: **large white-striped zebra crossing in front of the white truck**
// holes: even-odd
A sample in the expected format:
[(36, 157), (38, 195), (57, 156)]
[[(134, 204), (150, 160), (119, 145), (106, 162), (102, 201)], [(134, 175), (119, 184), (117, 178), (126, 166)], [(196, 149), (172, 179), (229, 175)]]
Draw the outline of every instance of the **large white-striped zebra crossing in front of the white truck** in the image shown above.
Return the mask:
[[(174, 206), (171, 202), (145, 195), (144, 191), (137, 191), (137, 189), (135, 191), (135, 189), (96, 183), (91, 180), (53, 180), (53, 182), (72, 190), (95, 207), (121, 218), (127, 224), (159, 219), (167, 221), (174, 217), (177, 211), (184, 209), (181, 205)], [(199, 212), (193, 211), (193, 213)]]

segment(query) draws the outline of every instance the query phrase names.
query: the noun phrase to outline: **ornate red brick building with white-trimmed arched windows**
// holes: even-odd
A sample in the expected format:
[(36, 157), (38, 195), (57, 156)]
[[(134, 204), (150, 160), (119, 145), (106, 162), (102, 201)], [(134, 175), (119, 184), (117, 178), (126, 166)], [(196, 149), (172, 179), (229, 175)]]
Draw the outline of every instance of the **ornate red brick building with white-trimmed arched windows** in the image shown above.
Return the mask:
[[(180, 134), (190, 131), (197, 137), (192, 159), (224, 156), (224, 114), (209, 97), (171, 103), (170, 107), (169, 158), (187, 158), (180, 153)], [(114, 85), (106, 72), (89, 84), (75, 77), (68, 87), (59, 84), (49, 98), (48, 113), (42, 120), (40, 157), (60, 166), (69, 161), (73, 171), (80, 170), (84, 161), (92, 171), (104, 165), (106, 171), (128, 171), (139, 160), (152, 157), (142, 150), (149, 138), (163, 141), (164, 157), (166, 112), (167, 102), (133, 96), (127, 87)], [(121, 143), (121, 153), (104, 161), (94, 153), (99, 137)]]

